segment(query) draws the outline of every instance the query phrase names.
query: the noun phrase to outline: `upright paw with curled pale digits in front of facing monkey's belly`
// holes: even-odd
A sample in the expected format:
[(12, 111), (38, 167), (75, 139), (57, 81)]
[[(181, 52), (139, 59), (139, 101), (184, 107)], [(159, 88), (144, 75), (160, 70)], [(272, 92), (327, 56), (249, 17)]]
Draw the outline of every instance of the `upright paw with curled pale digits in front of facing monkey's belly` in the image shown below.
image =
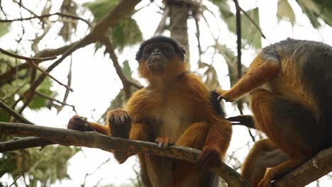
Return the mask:
[(131, 132), (131, 115), (127, 111), (114, 110), (107, 114), (111, 136), (128, 139)]

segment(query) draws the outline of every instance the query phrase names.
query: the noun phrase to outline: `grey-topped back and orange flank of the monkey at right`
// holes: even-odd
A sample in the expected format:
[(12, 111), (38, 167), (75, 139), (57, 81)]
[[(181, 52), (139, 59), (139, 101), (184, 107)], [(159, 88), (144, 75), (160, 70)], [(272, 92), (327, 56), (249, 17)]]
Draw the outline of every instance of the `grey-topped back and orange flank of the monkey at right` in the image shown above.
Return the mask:
[(262, 60), (280, 63), (268, 84), (272, 91), (314, 113), (322, 137), (318, 149), (332, 146), (332, 47), (309, 40), (282, 40), (262, 49)]

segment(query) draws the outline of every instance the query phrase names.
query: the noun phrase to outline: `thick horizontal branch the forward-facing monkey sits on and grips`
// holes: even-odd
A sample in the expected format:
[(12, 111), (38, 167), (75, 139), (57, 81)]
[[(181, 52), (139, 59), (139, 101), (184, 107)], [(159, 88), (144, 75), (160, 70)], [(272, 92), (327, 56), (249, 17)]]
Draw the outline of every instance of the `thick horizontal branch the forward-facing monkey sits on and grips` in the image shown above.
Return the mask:
[[(142, 142), (126, 140), (118, 137), (101, 135), (98, 132), (80, 132), (77, 130), (67, 130), (60, 128), (48, 128), (38, 125), (28, 125), (23, 123), (4, 123), (0, 122), (0, 131), (11, 135), (35, 136), (47, 138), (51, 142), (56, 142), (65, 146), (93, 147), (103, 149), (108, 152), (116, 149), (126, 152), (143, 152), (154, 154), (161, 157), (182, 159), (187, 162), (195, 163), (200, 151), (189, 147), (165, 147), (160, 148), (152, 142)], [(18, 141), (18, 140), (15, 140)], [(4, 147), (3, 147), (4, 146)], [(6, 150), (6, 145), (0, 147), (0, 152)], [(221, 176), (228, 186), (250, 186), (236, 171), (222, 162), (218, 163), (213, 169), (218, 176)]]

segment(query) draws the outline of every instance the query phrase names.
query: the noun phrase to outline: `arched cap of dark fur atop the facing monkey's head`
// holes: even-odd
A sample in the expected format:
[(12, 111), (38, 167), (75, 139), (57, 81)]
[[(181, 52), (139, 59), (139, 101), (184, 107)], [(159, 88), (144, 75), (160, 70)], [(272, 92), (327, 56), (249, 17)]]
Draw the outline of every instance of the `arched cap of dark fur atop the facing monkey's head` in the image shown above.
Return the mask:
[(136, 53), (136, 60), (139, 62), (140, 58), (142, 58), (142, 53), (144, 50), (144, 47), (146, 45), (149, 45), (150, 43), (153, 42), (167, 42), (170, 43), (170, 45), (172, 45), (172, 47), (174, 48), (175, 52), (177, 53), (177, 55), (181, 58), (181, 60), (184, 60), (184, 55), (186, 54), (186, 51), (184, 50), (183, 47), (181, 47), (175, 40), (173, 40), (172, 38), (168, 38), (162, 35), (156, 35), (153, 36), (153, 38), (150, 38), (149, 40), (145, 40), (141, 45), (140, 45), (140, 49), (138, 50), (138, 52)]

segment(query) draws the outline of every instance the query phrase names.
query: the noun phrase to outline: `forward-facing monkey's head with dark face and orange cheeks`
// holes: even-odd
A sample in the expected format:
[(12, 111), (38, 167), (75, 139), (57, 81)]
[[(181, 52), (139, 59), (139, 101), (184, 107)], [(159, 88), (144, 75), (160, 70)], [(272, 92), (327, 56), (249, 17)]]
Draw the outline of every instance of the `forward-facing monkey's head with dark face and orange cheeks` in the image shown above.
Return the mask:
[(187, 70), (184, 63), (186, 51), (175, 40), (165, 36), (155, 36), (145, 40), (136, 54), (141, 77), (170, 77)]

